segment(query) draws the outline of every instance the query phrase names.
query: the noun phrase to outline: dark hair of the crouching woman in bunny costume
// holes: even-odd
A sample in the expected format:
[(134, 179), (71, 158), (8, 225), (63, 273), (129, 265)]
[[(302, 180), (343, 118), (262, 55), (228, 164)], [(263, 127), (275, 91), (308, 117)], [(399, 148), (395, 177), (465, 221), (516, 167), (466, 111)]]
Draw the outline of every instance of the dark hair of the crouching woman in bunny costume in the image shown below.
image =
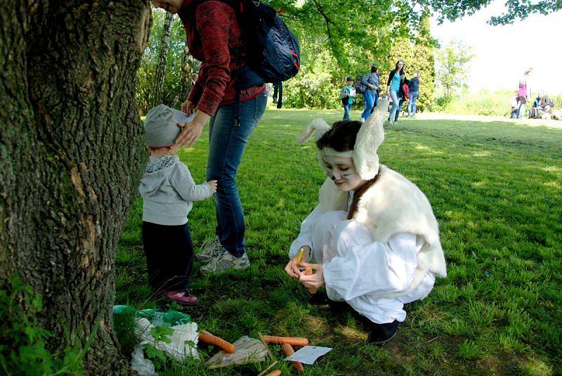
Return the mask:
[[(318, 141), (316, 141), (316, 146), (318, 149), (332, 148), (340, 152), (353, 150), (353, 147), (355, 146), (355, 139), (357, 138), (360, 128), (361, 123), (356, 120), (342, 120), (341, 122), (335, 122), (334, 125), (332, 125), (332, 129), (327, 131)], [(369, 189), (370, 186), (379, 179), (379, 172), (380, 169), (377, 172), (377, 176), (374, 176), (373, 179), (368, 180), (363, 186), (355, 190), (353, 201), (351, 202), (351, 207), (349, 208), (349, 212), (347, 214), (347, 219), (353, 218), (355, 212), (357, 212), (359, 199), (363, 193), (365, 193), (367, 189)]]

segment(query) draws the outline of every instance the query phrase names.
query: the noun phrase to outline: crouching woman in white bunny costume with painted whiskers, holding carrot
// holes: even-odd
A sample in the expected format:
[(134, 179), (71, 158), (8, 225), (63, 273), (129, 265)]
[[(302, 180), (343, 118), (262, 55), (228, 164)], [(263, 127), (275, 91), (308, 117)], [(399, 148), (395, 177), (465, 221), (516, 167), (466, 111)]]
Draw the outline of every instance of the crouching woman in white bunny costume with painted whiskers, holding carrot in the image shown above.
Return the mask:
[[(406, 318), (403, 305), (424, 299), (436, 276), (447, 275), (438, 223), (424, 193), (379, 164), (388, 99), (365, 124), (344, 120), (329, 127), (313, 121), (318, 162), (328, 179), (320, 203), (301, 224), (285, 267), (305, 287), (325, 286), (369, 320), (368, 341), (390, 340)], [(301, 263), (298, 264), (300, 250)], [(308, 264), (314, 259), (316, 264)], [(315, 273), (306, 275), (301, 267)]]

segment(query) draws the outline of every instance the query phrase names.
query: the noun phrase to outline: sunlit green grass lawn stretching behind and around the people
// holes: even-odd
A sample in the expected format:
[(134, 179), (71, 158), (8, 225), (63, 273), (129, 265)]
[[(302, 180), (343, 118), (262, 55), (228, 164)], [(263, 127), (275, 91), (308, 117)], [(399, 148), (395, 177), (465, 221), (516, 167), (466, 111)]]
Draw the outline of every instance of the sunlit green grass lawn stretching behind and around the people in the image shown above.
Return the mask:
[[(262, 332), (334, 348), (304, 375), (562, 374), (562, 129), (421, 119), (386, 128), (381, 162), (426, 193), (449, 275), (429, 297), (407, 304), (398, 335), (377, 347), (365, 344), (355, 316), (312, 306), (306, 289), (283, 271), (325, 179), (313, 142), (295, 142), (316, 117), (331, 123), (341, 111), (266, 112), (237, 179), (251, 267), (202, 278), (196, 263), (192, 293), (200, 305), (183, 311), (231, 342)], [(207, 134), (181, 160), (204, 181)], [(117, 250), (115, 303), (165, 308), (150, 296), (141, 221), (138, 199)], [(213, 202), (197, 202), (189, 223), (200, 252), (214, 236)], [(283, 375), (296, 373), (282, 361), (280, 346), (271, 349)], [(169, 375), (256, 375), (269, 363), (222, 371), (159, 367)]]

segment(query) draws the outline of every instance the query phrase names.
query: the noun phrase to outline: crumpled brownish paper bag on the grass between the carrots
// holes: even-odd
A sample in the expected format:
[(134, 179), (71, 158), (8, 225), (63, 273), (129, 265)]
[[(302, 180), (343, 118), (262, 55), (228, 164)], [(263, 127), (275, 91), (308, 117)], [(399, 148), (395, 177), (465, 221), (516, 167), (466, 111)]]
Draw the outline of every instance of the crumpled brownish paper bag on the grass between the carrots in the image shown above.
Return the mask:
[(266, 360), (267, 350), (259, 339), (243, 336), (233, 343), (236, 347), (234, 354), (218, 351), (207, 361), (209, 369), (230, 367), (231, 365), (258, 363)]

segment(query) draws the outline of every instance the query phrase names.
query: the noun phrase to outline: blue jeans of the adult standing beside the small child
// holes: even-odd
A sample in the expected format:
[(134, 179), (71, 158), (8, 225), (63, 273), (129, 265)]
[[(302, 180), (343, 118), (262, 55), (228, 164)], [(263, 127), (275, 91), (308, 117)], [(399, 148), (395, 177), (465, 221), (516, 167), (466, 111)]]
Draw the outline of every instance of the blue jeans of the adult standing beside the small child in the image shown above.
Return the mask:
[(244, 212), (236, 186), (236, 172), (251, 133), (266, 110), (267, 94), (240, 103), (240, 126), (234, 122), (235, 104), (218, 108), (209, 124), (207, 181), (216, 180), (216, 235), (235, 257), (246, 251)]

